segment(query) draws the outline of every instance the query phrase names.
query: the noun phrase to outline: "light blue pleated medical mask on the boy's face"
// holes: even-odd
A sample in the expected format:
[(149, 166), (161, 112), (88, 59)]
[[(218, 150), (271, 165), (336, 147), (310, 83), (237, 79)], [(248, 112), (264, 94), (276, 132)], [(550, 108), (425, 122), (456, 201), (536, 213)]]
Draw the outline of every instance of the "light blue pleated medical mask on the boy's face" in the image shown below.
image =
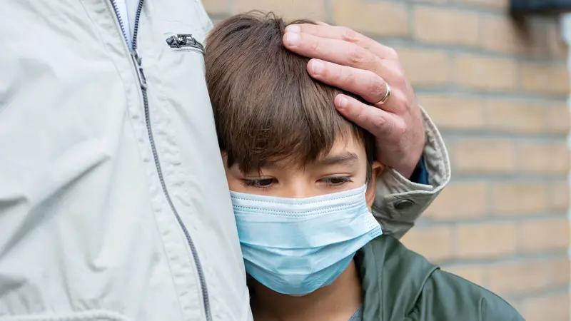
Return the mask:
[(383, 232), (366, 185), (313, 198), (231, 192), (246, 272), (271, 290), (307, 295), (330, 285)]

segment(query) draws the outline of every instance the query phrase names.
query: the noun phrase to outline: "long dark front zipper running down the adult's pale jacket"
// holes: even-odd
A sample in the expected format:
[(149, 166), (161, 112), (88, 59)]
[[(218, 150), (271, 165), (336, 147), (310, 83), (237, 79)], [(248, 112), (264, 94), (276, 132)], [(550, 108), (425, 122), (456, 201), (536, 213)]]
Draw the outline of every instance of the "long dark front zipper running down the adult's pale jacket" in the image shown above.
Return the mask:
[[(180, 225), (181, 229), (183, 230), (184, 235), (186, 236), (186, 241), (188, 243), (188, 246), (191, 248), (191, 253), (192, 253), (192, 256), (194, 259), (194, 264), (196, 265), (196, 272), (198, 273), (198, 278), (199, 278), (200, 283), (201, 283), (202, 300), (203, 300), (203, 305), (204, 305), (204, 311), (206, 313), (206, 320), (211, 321), (212, 315), (211, 315), (211, 310), (210, 310), (210, 300), (208, 300), (208, 289), (206, 287), (206, 277), (204, 277), (204, 271), (202, 269), (201, 261), (200, 261), (200, 258), (198, 258), (198, 251), (196, 250), (196, 247), (194, 246), (193, 240), (191, 238), (191, 234), (188, 233), (186, 226), (184, 225), (183, 221), (181, 220), (181, 216), (178, 215), (178, 211), (176, 210), (176, 208), (173, 204), (173, 200), (171, 199), (171, 195), (168, 193), (168, 189), (166, 188), (166, 183), (165, 183), (165, 180), (163, 177), (163, 170), (161, 168), (161, 162), (158, 159), (158, 152), (156, 150), (155, 139), (153, 137), (153, 128), (151, 127), (151, 115), (149, 113), (149, 108), (148, 108), (147, 81), (145, 78), (145, 73), (143, 71), (142, 57), (138, 54), (138, 51), (137, 51), (138, 23), (139, 23), (139, 20), (141, 19), (141, 11), (143, 10), (144, 2), (145, 2), (145, 0), (138, 0), (137, 11), (136, 11), (136, 16), (135, 16), (135, 24), (133, 27), (133, 40), (131, 41), (130, 52), (131, 52), (131, 59), (133, 60), (133, 65), (135, 66), (136, 71), (137, 71), (138, 81), (139, 81), (139, 84), (141, 85), (141, 93), (143, 95), (143, 105), (144, 105), (144, 109), (145, 109), (145, 121), (146, 121), (146, 127), (147, 127), (147, 132), (148, 132), (148, 140), (151, 143), (151, 151), (153, 152), (153, 158), (155, 161), (155, 168), (156, 168), (156, 171), (158, 174), (158, 179), (161, 182), (161, 188), (163, 189), (163, 194), (165, 195), (165, 198), (168, 202), (168, 205), (170, 206), (173, 214), (176, 217), (176, 220), (178, 221), (178, 225)], [(125, 26), (123, 25), (123, 19), (121, 19), (121, 14), (119, 14), (119, 9), (118, 9), (118, 6), (116, 4), (116, 1), (111, 0), (111, 4), (113, 5), (113, 11), (115, 11), (115, 15), (117, 16), (119, 26), (121, 26), (121, 32), (123, 33), (123, 39), (125, 40), (125, 42), (128, 46), (127, 33), (125, 31)], [(198, 43), (198, 41), (197, 41), (197, 43)]]

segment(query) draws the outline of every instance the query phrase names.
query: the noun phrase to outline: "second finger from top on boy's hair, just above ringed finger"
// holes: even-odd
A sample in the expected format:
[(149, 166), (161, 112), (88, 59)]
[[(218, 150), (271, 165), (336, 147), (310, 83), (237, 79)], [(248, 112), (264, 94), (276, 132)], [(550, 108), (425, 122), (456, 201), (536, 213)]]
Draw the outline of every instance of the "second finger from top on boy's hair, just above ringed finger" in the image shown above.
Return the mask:
[(383, 59), (347, 41), (287, 32), (283, 36), (283, 44), (301, 56), (383, 73)]

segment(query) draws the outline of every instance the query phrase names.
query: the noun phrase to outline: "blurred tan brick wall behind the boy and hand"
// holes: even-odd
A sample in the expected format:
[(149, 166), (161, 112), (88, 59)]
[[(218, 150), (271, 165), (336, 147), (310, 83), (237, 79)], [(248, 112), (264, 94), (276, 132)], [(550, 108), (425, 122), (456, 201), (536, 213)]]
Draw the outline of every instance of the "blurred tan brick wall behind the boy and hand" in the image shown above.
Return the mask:
[(505, 297), (570, 320), (567, 49), (556, 19), (520, 27), (507, 0), (203, 0), (343, 24), (395, 47), (450, 150), (453, 181), (404, 242)]

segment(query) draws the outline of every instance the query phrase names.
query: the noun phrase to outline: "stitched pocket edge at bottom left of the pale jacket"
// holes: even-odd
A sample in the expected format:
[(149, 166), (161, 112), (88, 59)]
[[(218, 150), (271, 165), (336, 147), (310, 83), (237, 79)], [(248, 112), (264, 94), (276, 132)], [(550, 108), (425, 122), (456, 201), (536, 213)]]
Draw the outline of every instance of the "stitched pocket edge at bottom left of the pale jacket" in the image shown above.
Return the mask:
[(131, 319), (108, 310), (90, 310), (84, 312), (46, 313), (42, 315), (0, 316), (0, 321), (131, 321)]

